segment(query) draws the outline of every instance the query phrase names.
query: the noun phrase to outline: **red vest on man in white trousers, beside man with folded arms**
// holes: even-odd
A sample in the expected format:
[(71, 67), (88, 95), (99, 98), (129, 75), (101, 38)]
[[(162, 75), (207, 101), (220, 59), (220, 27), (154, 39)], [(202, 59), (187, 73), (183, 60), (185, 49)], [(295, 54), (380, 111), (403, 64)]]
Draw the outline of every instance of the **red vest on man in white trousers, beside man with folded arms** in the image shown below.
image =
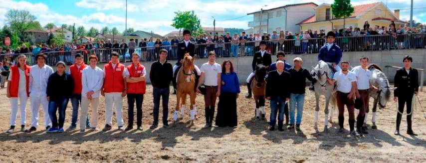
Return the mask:
[(105, 93), (110, 92), (123, 92), (124, 91), (124, 65), (117, 63), (115, 67), (112, 67), (111, 61), (105, 64), (105, 79), (104, 79), (104, 90)]

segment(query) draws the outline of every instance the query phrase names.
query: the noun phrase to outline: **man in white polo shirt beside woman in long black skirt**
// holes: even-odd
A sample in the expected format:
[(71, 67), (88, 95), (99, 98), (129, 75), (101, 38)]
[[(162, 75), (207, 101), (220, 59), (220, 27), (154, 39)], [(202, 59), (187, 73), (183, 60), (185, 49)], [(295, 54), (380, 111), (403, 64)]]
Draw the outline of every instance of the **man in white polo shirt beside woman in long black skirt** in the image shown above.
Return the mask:
[[(220, 95), (220, 74), (222, 69), (220, 64), (215, 62), (216, 54), (214, 51), (209, 52), (209, 62), (204, 63), (201, 66), (201, 76), (197, 86), (197, 92), (200, 92), (200, 85), (204, 83), (206, 87), (206, 94), (204, 95), (205, 111), (206, 111), (206, 126), (204, 128), (210, 128), (213, 125), (214, 116), (214, 105), (216, 104), (216, 97)], [(203, 82), (203, 79), (204, 80)]]

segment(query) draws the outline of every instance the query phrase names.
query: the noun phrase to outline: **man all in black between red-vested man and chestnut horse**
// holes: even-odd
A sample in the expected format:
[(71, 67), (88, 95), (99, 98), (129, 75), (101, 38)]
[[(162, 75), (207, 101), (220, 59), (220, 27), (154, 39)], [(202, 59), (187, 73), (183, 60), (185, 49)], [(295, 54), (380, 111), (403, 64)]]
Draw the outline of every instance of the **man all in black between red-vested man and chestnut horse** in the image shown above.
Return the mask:
[(168, 128), (167, 117), (169, 114), (169, 94), (170, 82), (173, 79), (172, 64), (167, 62), (167, 50), (160, 50), (160, 60), (152, 63), (150, 71), (151, 84), (154, 87), (154, 123), (150, 129), (155, 129), (158, 126), (158, 114), (160, 111), (160, 98), (163, 98), (163, 127)]

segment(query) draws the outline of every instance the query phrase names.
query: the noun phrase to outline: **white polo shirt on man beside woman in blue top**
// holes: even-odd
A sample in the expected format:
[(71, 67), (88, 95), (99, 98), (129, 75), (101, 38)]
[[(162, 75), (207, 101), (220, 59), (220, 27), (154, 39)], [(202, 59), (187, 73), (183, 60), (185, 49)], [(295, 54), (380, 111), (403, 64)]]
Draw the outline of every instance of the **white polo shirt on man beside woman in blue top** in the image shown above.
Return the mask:
[(210, 65), (207, 62), (201, 66), (201, 72), (204, 73), (204, 85), (217, 86), (217, 74), (222, 72), (222, 68), (218, 63)]

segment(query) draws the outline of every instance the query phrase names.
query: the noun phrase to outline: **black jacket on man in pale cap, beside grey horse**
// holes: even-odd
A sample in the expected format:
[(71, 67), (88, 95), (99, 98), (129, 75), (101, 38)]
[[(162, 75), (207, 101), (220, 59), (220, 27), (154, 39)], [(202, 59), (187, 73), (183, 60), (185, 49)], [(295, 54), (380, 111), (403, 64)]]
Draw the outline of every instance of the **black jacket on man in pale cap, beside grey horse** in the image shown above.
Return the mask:
[(309, 81), (316, 81), (315, 78), (312, 78), (309, 71), (304, 68), (300, 68), (299, 71), (291, 68), (288, 70), (288, 73), (291, 75), (290, 93), (305, 94), (306, 78), (308, 78)]

